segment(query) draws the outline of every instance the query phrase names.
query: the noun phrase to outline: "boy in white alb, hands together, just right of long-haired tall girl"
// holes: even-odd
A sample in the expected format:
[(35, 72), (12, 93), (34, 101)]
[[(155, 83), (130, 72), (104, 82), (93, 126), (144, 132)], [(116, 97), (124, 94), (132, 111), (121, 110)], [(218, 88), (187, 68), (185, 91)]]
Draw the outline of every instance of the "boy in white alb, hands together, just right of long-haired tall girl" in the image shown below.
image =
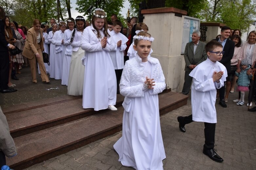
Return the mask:
[(119, 20), (113, 22), (112, 28), (113, 30), (110, 32), (110, 36), (114, 39), (117, 46), (115, 49), (116, 51), (109, 52), (109, 55), (114, 65), (117, 82), (117, 94), (119, 94), (119, 80), (121, 79), (124, 68), (124, 51), (127, 47), (126, 42), (128, 41), (128, 38), (120, 33), (122, 23)]

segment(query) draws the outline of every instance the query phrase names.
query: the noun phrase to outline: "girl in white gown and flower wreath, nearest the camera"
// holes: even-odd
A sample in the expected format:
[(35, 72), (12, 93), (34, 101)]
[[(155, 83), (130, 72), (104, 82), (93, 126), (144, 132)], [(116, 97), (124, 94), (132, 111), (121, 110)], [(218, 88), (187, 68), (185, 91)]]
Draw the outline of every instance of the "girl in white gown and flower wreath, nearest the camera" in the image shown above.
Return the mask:
[(146, 32), (138, 36), (141, 40), (134, 42), (137, 53), (126, 61), (120, 81), (120, 93), (125, 96), (123, 134), (114, 149), (124, 166), (136, 170), (163, 170), (162, 160), (166, 155), (158, 93), (166, 87), (165, 77), (158, 59), (148, 56), (153, 38)]

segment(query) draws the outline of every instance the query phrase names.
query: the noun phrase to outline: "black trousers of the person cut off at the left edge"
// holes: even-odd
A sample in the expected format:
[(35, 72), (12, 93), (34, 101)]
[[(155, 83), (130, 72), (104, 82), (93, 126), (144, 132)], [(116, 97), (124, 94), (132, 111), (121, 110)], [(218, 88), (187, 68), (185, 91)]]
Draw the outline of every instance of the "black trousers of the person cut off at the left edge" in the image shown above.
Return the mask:
[(0, 53), (0, 89), (3, 90), (8, 88), (10, 59), (8, 51)]

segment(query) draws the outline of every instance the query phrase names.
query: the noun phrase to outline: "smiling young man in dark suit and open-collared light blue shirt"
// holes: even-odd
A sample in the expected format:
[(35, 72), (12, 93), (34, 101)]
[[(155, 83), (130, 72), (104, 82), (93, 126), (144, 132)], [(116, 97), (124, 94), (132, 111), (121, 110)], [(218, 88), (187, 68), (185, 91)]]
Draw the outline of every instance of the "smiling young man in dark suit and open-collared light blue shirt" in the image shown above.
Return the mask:
[[(225, 53), (223, 54), (222, 59), (219, 62), (226, 67), (227, 76), (230, 76), (230, 72), (231, 72), (230, 60), (232, 59), (234, 50), (235, 50), (235, 43), (229, 39), (229, 35), (230, 35), (230, 27), (224, 26), (221, 28), (221, 37), (219, 39), (213, 39), (213, 40), (219, 41), (223, 46), (223, 51)], [(224, 86), (219, 89), (219, 94), (220, 94), (219, 104), (222, 107), (227, 107), (224, 101), (225, 82), (224, 82)]]

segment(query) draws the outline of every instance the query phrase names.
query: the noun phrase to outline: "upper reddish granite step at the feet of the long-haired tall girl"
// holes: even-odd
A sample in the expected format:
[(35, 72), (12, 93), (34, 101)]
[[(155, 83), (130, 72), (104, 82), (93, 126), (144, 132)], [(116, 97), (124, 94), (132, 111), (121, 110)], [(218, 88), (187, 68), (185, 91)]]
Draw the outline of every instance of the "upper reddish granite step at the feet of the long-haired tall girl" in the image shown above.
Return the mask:
[[(123, 100), (124, 97), (118, 94), (116, 107), (121, 106)], [(36, 101), (3, 109), (12, 137), (40, 131), (104, 111), (83, 109), (82, 97), (53, 98), (44, 102)]]

